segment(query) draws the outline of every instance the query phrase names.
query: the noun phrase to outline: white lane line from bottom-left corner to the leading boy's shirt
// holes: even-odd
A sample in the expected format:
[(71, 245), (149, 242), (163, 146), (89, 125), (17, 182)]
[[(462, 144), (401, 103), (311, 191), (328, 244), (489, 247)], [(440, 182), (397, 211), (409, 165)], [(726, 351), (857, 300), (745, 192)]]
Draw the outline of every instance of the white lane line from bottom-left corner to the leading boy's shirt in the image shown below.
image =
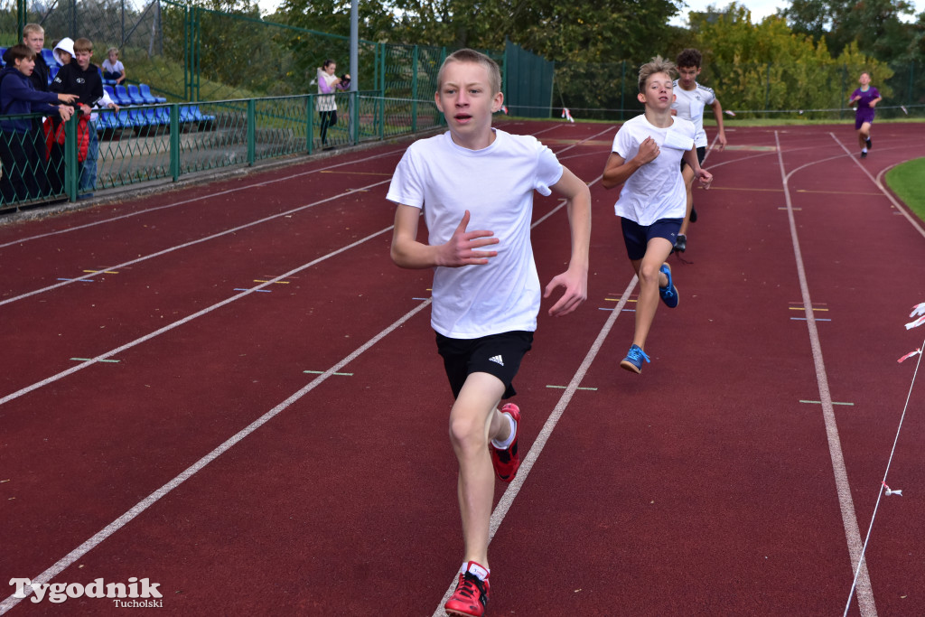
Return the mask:
[[(424, 308), (428, 306), (429, 304), (430, 304), (430, 300), (429, 299), (425, 300), (425, 302), (421, 302), (411, 311), (409, 311), (405, 315), (402, 315), (401, 318), (398, 319), (398, 321), (394, 322), (391, 326), (388, 326), (386, 329), (376, 334), (376, 336), (373, 337), (372, 339), (367, 340), (364, 343), (364, 345), (362, 345), (361, 347), (351, 352), (350, 355), (345, 357), (338, 364), (334, 364), (333, 366), (328, 368), (327, 371), (325, 371), (322, 375), (315, 377), (311, 382), (308, 383), (308, 385), (306, 385), (299, 391), (292, 394), (285, 401), (280, 402), (276, 407), (274, 407), (270, 411), (264, 413), (262, 416), (254, 420), (250, 425), (241, 429), (240, 432), (235, 434), (233, 437), (228, 438), (224, 443), (218, 446), (215, 450), (212, 450), (211, 452), (203, 456), (203, 458), (201, 458), (199, 461), (197, 461), (196, 463), (193, 463), (190, 467), (186, 469), (186, 471), (184, 471), (180, 475), (176, 476), (175, 478), (167, 482), (166, 485), (164, 485), (163, 487), (160, 487), (157, 490), (155, 490), (153, 493), (151, 493), (151, 495), (148, 495), (148, 497), (146, 497), (145, 499), (136, 503), (134, 506), (131, 507), (129, 512), (125, 512), (124, 514), (119, 516), (115, 521), (113, 521), (110, 524), (107, 524), (103, 529), (98, 531), (96, 534), (93, 535), (93, 537), (90, 537), (90, 539), (86, 540), (79, 547), (71, 550), (67, 555), (65, 555), (63, 558), (58, 560), (55, 563), (55, 565), (51, 566), (50, 568), (45, 570), (42, 574), (39, 574), (38, 576), (33, 578), (32, 584), (39, 585), (39, 584), (48, 583), (49, 581), (51, 581), (53, 578), (55, 578), (57, 574), (60, 574), (70, 564), (74, 563), (74, 561), (79, 560), (81, 557), (86, 555), (88, 552), (95, 549), (97, 546), (100, 545), (100, 543), (105, 541), (107, 537), (110, 537), (113, 534), (115, 534), (119, 529), (129, 524), (139, 514), (141, 514), (142, 512), (144, 512), (151, 506), (153, 506), (154, 503), (156, 503), (158, 500), (161, 500), (163, 497), (165, 497), (174, 488), (179, 487), (181, 484), (183, 484), (188, 479), (190, 479), (193, 475), (201, 471), (203, 467), (205, 467), (205, 465), (215, 461), (219, 456), (224, 454), (226, 451), (230, 450), (241, 439), (246, 438), (248, 435), (253, 433), (253, 431), (257, 430), (261, 426), (264, 426), (267, 422), (272, 420), (279, 413), (282, 413), (288, 407), (290, 407), (292, 403), (299, 401), (299, 399), (301, 399), (303, 396), (305, 396), (306, 394), (311, 392), (313, 389), (320, 386), (322, 383), (324, 383), (327, 380), (328, 377), (337, 373), (341, 368), (343, 368), (347, 364), (350, 364), (353, 360), (359, 357), (362, 353), (366, 352), (371, 347), (373, 347), (373, 345), (375, 345), (377, 342), (379, 342), (380, 340), (388, 336), (388, 334), (390, 334), (393, 330), (395, 330), (395, 328), (401, 327), (402, 324), (404, 324), (406, 321), (411, 319), (414, 315), (417, 315), (419, 312), (424, 310)], [(6, 599), (4, 599), (3, 602), (0, 602), (0, 615), (4, 614), (6, 611), (9, 611), (13, 607), (15, 607), (23, 599), (28, 598), (31, 593), (32, 593), (31, 587), (26, 587), (25, 596), (23, 598), (17, 598), (15, 595), (8, 596)]]

